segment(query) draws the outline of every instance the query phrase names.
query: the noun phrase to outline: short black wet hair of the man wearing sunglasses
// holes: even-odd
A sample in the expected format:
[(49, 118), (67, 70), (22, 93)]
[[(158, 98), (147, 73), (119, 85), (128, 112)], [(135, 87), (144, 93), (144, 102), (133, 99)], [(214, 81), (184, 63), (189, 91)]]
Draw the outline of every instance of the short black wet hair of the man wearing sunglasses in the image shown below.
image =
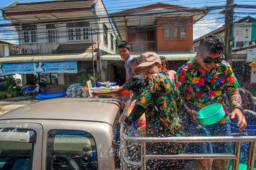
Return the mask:
[(209, 35), (201, 40), (198, 50), (202, 53), (209, 52), (210, 54), (221, 54), (224, 50), (224, 41), (217, 35)]

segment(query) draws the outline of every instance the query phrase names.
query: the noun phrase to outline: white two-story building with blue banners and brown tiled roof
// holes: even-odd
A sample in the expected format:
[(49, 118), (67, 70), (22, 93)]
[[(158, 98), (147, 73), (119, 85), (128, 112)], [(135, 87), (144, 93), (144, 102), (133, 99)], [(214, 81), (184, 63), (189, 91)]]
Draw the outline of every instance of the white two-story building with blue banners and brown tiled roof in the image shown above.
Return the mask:
[[(19, 44), (10, 45), (10, 55), (0, 58), (0, 63), (26, 75), (24, 84), (34, 83), (31, 63), (48, 85), (84, 84), (91, 77), (106, 81), (105, 63), (98, 58), (116, 49), (102, 0), (15, 1), (1, 10), (15, 27)], [(25, 65), (29, 69), (24, 69)]]

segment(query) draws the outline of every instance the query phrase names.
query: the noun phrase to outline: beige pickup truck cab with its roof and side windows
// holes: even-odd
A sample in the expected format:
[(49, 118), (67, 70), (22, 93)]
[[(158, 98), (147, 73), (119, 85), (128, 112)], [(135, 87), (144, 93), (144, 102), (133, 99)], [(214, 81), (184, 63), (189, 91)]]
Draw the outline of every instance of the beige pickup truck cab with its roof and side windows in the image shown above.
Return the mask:
[(58, 98), (1, 115), (0, 170), (118, 169), (113, 127), (120, 104)]

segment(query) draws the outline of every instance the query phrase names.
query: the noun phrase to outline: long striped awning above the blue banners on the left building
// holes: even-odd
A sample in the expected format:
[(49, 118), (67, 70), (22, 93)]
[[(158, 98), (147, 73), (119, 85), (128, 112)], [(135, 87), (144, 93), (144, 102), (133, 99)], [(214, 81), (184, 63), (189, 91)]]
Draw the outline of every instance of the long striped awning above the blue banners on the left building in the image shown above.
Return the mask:
[(34, 63), (58, 61), (88, 61), (93, 60), (91, 52), (73, 54), (45, 54), (45, 55), (9, 55), (0, 58), (0, 63)]

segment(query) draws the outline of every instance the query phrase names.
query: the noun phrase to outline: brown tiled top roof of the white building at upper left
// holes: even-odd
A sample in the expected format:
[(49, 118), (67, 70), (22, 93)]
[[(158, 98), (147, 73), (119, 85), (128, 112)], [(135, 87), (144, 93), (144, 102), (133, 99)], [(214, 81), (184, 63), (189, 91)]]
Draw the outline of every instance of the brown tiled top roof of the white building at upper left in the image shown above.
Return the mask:
[(94, 0), (59, 0), (35, 3), (17, 3), (14, 7), (6, 10), (5, 13), (83, 9), (91, 8), (93, 2)]

